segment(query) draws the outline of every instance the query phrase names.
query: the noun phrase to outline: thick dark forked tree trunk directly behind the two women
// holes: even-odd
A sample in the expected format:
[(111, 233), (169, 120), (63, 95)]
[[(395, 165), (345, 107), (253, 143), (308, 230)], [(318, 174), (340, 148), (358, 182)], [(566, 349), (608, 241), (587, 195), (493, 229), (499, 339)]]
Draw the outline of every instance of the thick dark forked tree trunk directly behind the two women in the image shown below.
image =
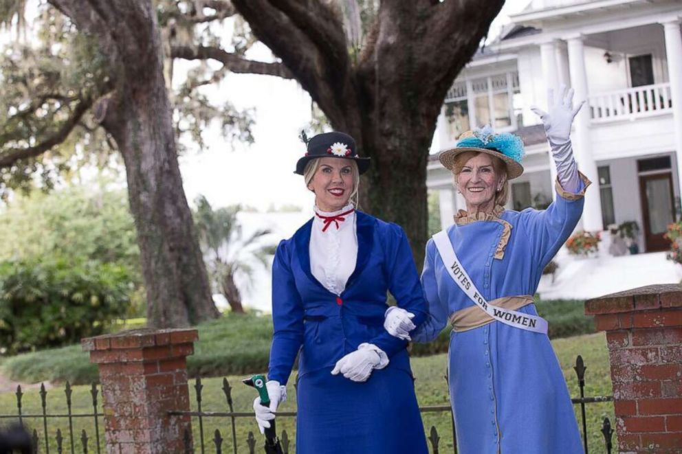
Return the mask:
[(421, 266), (428, 239), (426, 163), (445, 94), (503, 0), (382, 0), (360, 58), (320, 0), (232, 0), (336, 130), (372, 158), (361, 205), (401, 225)]

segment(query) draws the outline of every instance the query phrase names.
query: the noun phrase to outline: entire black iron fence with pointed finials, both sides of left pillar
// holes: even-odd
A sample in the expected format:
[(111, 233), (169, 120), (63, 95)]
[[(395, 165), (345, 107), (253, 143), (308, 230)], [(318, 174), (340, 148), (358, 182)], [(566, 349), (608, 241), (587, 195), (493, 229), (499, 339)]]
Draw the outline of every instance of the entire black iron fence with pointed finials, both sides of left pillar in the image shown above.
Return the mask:
[[(586, 421), (586, 411), (585, 407), (587, 404), (595, 402), (610, 402), (613, 401), (613, 396), (584, 396), (585, 388), (585, 370), (586, 367), (581, 356), (577, 356), (575, 361), (575, 374), (577, 376), (578, 386), (580, 389), (580, 397), (573, 398), (573, 404), (580, 406), (580, 422), (582, 427), (582, 434), (585, 446), (585, 453), (588, 454), (588, 437), (587, 437), (587, 421)], [(445, 376), (445, 381), (448, 377)], [(197, 424), (193, 424), (195, 428), (195, 434), (192, 436), (189, 432), (185, 433), (185, 450), (186, 453), (206, 453), (207, 449), (212, 452), (221, 454), (223, 452), (234, 454), (237, 453), (238, 448), (238, 438), (237, 438), (237, 422), (242, 418), (247, 418), (245, 424), (250, 424), (250, 427), (255, 428), (254, 415), (250, 407), (247, 411), (234, 411), (234, 402), (232, 400), (232, 387), (228, 382), (227, 378), (223, 378), (222, 391), (225, 397), (225, 407), (224, 409), (228, 411), (206, 411), (202, 407), (202, 391), (203, 384), (201, 383), (201, 378), (197, 378), (195, 384), (193, 385), (196, 396), (196, 408), (197, 411), (171, 411), (171, 415), (187, 415), (195, 419)], [(23, 391), (21, 387), (17, 387), (16, 394), (16, 411), (13, 413), (0, 414), (0, 422), (9, 421), (17, 422), (21, 427), (28, 429), (32, 438), (32, 452), (33, 453), (47, 453), (50, 452), (62, 454), (62, 453), (98, 453), (102, 451), (102, 446), (100, 444), (100, 418), (102, 418), (101, 404), (98, 401), (98, 387), (95, 384), (91, 385), (89, 391), (90, 402), (85, 405), (91, 406), (92, 411), (73, 411), (72, 405), (72, 387), (69, 383), (66, 383), (64, 394), (66, 403), (66, 412), (50, 412), (48, 409), (47, 402), (47, 390), (44, 385), (41, 385), (39, 391), (40, 396), (40, 408), (41, 411), (36, 413), (23, 411)], [(79, 409), (83, 409), (83, 402)], [(36, 405), (32, 406), (36, 408)], [(453, 451), (456, 453), (456, 431), (454, 428), (454, 421), (452, 420), (452, 410), (449, 403), (445, 405), (428, 405), (420, 407), (422, 413), (448, 413), (449, 415), (449, 426), (447, 434), (443, 434), (443, 428), (441, 427), (441, 433), (439, 433), (437, 427), (432, 425), (428, 431), (428, 443), (430, 445), (430, 450), (434, 454), (443, 452), (443, 444), (449, 444), (452, 441)], [(278, 421), (286, 420), (287, 418), (296, 418), (295, 411), (279, 411), (277, 413)], [(219, 429), (214, 429), (212, 433), (207, 437), (206, 429), (204, 427), (204, 420), (206, 418), (224, 418), (228, 420), (229, 440), (223, 438), (223, 433)], [(87, 424), (74, 424), (76, 420), (87, 420)], [(54, 424), (55, 422), (61, 422), (61, 424)], [(54, 426), (59, 427), (54, 429)], [(80, 430), (80, 433), (76, 430), (74, 426), (80, 425), (84, 428)], [(222, 425), (222, 424), (221, 424)], [(48, 430), (49, 426), (52, 430)], [(62, 430), (64, 429), (64, 430)], [(610, 426), (610, 421), (608, 418), (604, 418), (602, 421), (602, 427), (600, 429), (604, 438), (604, 451), (608, 454), (612, 450), (612, 435), (613, 429)], [(241, 431), (243, 432), (243, 431)], [(212, 437), (211, 437), (212, 435)], [(442, 436), (446, 438), (443, 439)], [(280, 441), (285, 453), (289, 453), (292, 435), (287, 433), (286, 430), (281, 432)], [(249, 431), (248, 435), (245, 437), (245, 444), (247, 446), (248, 452), (256, 453), (259, 451), (259, 447), (263, 444), (263, 439), (260, 435), (256, 437), (253, 431)], [(604, 452), (602, 451), (602, 452)]]

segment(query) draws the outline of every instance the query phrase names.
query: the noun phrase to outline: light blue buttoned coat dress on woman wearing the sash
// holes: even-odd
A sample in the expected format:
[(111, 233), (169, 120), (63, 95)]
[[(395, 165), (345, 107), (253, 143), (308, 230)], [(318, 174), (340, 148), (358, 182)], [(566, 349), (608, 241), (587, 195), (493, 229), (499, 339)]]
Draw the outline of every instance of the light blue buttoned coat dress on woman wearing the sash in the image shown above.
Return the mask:
[[(487, 301), (536, 292), (544, 266), (580, 219), (584, 189), (580, 194), (561, 191), (542, 211), (498, 207), (496, 215), (464, 216), (447, 229), (459, 261)], [(413, 341), (429, 342), (452, 313), (474, 303), (448, 274), (433, 240), (426, 245), (421, 282), (429, 316), (411, 335)], [(534, 304), (519, 311), (537, 315)], [(448, 356), (459, 453), (583, 452), (566, 382), (547, 335), (492, 321), (452, 331)]]

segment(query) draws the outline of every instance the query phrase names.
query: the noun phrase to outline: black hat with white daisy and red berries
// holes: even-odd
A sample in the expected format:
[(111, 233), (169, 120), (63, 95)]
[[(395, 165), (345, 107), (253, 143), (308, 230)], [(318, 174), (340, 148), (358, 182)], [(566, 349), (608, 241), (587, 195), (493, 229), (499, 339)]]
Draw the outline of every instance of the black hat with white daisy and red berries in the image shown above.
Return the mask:
[(369, 158), (358, 156), (353, 137), (345, 133), (322, 133), (308, 139), (305, 132), (301, 132), (300, 139), (306, 144), (305, 156), (298, 159), (294, 173), (303, 175), (305, 166), (311, 159), (316, 158), (343, 158), (353, 159), (358, 163), (360, 174), (369, 169)]

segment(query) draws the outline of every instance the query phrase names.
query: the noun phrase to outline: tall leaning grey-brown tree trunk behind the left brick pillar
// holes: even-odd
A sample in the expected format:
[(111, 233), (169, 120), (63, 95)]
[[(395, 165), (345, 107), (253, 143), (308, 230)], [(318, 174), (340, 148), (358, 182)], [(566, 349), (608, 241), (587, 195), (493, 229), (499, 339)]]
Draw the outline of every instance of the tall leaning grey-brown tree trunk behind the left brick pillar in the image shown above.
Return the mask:
[(98, 36), (115, 90), (102, 126), (122, 153), (147, 293), (147, 324), (181, 327), (218, 317), (180, 176), (151, 1), (50, 0)]

